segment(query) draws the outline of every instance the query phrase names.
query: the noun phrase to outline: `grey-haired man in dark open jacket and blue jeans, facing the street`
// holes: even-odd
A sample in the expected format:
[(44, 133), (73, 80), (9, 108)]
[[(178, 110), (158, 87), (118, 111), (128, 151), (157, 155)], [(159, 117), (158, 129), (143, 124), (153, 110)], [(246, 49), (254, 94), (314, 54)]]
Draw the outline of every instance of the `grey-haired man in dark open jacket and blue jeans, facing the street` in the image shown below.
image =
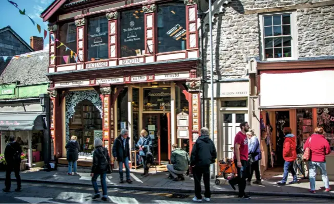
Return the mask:
[(129, 184), (132, 183), (130, 179), (130, 168), (129, 168), (129, 161), (130, 161), (130, 146), (129, 146), (129, 131), (127, 129), (122, 129), (120, 131), (120, 135), (116, 138), (113, 145), (113, 156), (115, 160), (118, 162), (118, 171), (119, 171), (119, 179), (120, 184), (123, 184), (123, 164), (126, 168), (126, 176), (127, 182)]

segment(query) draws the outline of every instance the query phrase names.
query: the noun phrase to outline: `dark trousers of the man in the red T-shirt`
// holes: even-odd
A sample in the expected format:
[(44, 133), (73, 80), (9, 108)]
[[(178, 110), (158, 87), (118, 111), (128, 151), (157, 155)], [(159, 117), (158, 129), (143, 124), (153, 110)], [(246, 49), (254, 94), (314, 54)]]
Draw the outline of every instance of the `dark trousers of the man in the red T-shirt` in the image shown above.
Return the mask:
[[(235, 186), (236, 184), (238, 184), (238, 188), (239, 188), (239, 197), (242, 197), (245, 195), (245, 189), (246, 189), (246, 178), (248, 176), (247, 174), (247, 165), (248, 165), (248, 161), (245, 160), (241, 160), (241, 165), (243, 167), (243, 171), (241, 172), (241, 168), (238, 167), (237, 165), (238, 161), (234, 160), (234, 164), (236, 165), (237, 168), (237, 172), (238, 175), (234, 178), (232, 178), (231, 180), (229, 180), (229, 182)], [(242, 176), (240, 176), (242, 175)]]

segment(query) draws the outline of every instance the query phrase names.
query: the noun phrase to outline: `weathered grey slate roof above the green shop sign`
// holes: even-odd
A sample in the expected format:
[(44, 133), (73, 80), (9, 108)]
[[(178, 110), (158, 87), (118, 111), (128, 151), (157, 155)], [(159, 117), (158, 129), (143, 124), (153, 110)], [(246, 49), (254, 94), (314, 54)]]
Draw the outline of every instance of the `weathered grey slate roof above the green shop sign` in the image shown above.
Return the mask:
[[(27, 57), (30, 55), (31, 57)], [(1, 74), (0, 83), (12, 83), (19, 81), (20, 85), (48, 83), (46, 77), (49, 65), (49, 51), (42, 50), (26, 53), (18, 59), (12, 58), (4, 72)], [(43, 59), (40, 56), (44, 56)]]

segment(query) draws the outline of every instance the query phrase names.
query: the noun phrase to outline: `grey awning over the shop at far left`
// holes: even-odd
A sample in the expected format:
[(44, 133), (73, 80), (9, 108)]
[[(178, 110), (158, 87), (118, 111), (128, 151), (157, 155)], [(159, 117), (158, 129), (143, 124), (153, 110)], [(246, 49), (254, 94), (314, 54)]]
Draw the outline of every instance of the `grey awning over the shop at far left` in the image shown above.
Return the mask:
[(45, 127), (40, 114), (0, 115), (0, 130), (43, 130)]

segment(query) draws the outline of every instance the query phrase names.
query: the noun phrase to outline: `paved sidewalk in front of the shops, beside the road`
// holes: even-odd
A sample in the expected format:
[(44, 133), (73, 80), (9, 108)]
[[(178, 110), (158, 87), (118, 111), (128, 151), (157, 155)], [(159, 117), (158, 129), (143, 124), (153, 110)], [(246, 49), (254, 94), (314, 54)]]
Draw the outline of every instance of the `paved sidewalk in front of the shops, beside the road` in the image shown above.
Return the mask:
[[(141, 191), (170, 191), (178, 193), (194, 193), (194, 180), (192, 177), (185, 176), (184, 181), (173, 182), (167, 179), (168, 172), (156, 173), (154, 169), (150, 169), (148, 177), (140, 176), (140, 170), (131, 172), (132, 184), (119, 184), (119, 174), (114, 172), (107, 175), (108, 188), (141, 190)], [(44, 184), (62, 184), (62, 185), (78, 185), (91, 186), (91, 177), (89, 169), (78, 169), (77, 175), (67, 175), (67, 168), (58, 167), (57, 171), (40, 171), (33, 169), (20, 172), (21, 178), (25, 182), (44, 183)], [(125, 175), (124, 175), (125, 176)], [(0, 172), (0, 180), (5, 179), (5, 172)], [(12, 173), (12, 179), (15, 179)], [(334, 199), (334, 191), (324, 192), (323, 182), (317, 181), (316, 194), (308, 192), (309, 181), (307, 179), (300, 180), (298, 184), (278, 186), (276, 182), (280, 177), (275, 179), (263, 179), (262, 185), (254, 185), (246, 187), (246, 193), (249, 195), (266, 195), (266, 196), (294, 196), (294, 197), (321, 197)], [(289, 175), (289, 180), (292, 177)], [(289, 181), (288, 180), (288, 181)], [(98, 181), (99, 184), (99, 181)], [(202, 183), (204, 189), (204, 185)], [(330, 186), (334, 189), (334, 182), (330, 182)], [(238, 189), (238, 188), (237, 188)], [(213, 194), (236, 194), (227, 183), (227, 180), (220, 178), (220, 185), (215, 185), (215, 179), (211, 179), (211, 191)]]

